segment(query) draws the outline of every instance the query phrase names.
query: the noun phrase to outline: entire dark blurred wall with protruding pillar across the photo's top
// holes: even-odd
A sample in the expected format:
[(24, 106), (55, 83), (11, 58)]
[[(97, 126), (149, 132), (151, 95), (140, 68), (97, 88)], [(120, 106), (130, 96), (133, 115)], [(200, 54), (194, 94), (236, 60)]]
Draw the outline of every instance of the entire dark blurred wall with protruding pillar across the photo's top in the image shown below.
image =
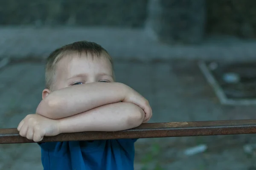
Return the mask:
[(252, 0), (1, 0), (0, 26), (146, 28), (167, 44), (211, 34), (256, 38)]

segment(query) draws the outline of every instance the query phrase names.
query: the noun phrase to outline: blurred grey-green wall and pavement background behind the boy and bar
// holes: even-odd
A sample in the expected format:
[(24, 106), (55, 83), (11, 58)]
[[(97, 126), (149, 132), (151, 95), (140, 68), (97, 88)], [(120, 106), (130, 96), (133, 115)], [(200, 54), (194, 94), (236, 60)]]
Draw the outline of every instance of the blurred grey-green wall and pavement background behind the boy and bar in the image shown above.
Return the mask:
[[(255, 119), (256, 1), (0, 0), (0, 128), (35, 113), (55, 48), (94, 41), (151, 122)], [(255, 135), (140, 139), (135, 170), (256, 170)], [(37, 144), (0, 145), (0, 170), (42, 170)]]

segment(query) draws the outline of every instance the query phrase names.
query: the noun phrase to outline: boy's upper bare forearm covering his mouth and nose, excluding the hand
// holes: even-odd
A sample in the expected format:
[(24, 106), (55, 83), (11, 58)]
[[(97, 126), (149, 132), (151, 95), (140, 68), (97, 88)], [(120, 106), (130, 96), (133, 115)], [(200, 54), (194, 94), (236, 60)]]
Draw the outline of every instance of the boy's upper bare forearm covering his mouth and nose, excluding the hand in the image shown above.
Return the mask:
[(50, 119), (73, 116), (125, 98), (122, 83), (88, 83), (53, 91), (38, 105), (36, 113)]

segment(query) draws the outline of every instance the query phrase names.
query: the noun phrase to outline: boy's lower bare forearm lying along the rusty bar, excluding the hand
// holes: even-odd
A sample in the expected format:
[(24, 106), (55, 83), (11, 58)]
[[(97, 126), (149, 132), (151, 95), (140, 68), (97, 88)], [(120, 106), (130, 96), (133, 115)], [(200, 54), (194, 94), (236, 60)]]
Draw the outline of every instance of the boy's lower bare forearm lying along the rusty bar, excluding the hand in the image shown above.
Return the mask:
[(144, 111), (132, 103), (112, 103), (59, 120), (61, 133), (118, 131), (139, 126)]

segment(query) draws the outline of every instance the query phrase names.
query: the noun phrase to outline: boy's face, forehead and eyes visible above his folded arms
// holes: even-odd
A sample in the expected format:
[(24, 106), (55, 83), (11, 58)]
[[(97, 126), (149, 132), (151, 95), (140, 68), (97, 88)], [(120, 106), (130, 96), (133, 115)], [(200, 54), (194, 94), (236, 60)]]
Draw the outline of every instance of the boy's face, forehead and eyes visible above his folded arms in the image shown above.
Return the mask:
[(54, 90), (91, 82), (114, 82), (112, 65), (107, 58), (64, 57), (57, 63)]

